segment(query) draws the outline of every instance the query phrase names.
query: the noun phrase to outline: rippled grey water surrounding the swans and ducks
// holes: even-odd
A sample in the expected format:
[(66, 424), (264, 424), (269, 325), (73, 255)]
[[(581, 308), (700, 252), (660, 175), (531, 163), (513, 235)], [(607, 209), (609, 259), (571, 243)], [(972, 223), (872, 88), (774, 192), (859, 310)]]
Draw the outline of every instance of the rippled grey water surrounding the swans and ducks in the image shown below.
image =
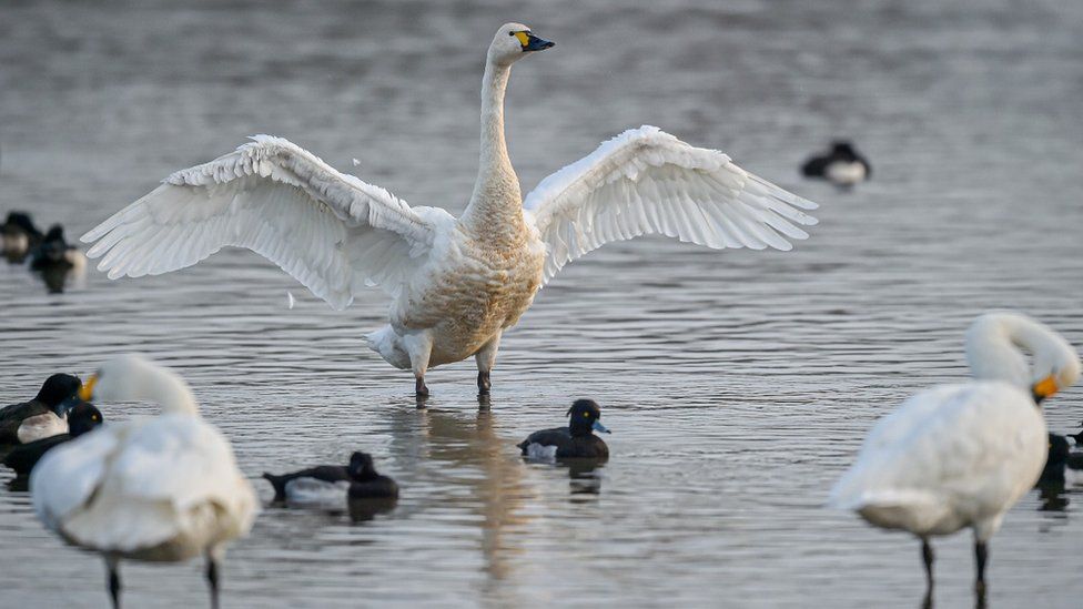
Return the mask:
[[(466, 362), (431, 373), (423, 408), (364, 347), (378, 291), (334, 312), (235, 250), (138, 281), (90, 270), (62, 294), (0, 264), (0, 403), (139, 351), (188, 378), (264, 501), (260, 473), (358, 448), (398, 479), (398, 506), (372, 520), (267, 507), (229, 552), (224, 607), (920, 606), (918, 544), (822, 505), (879, 417), (966, 376), (975, 314), (1024, 311), (1083, 346), (1083, 4), (4, 2), (0, 211), (74, 237), (273, 133), (458, 212), (485, 48), (509, 20), (557, 43), (512, 77), (525, 192), (656, 124), (821, 203), (812, 238), (608, 245), (505, 335), (490, 404)], [(850, 192), (797, 171), (837, 136), (874, 168)], [(576, 397), (603, 405), (610, 461), (524, 463), (514, 444)], [(1083, 392), (1046, 418), (1076, 429)], [(990, 607), (1080, 602), (1083, 488), (1047, 503), (1024, 497), (993, 539)], [(970, 544), (935, 542), (937, 607), (973, 605)], [(125, 599), (203, 606), (201, 569), (125, 564)], [(6, 489), (0, 590), (4, 607), (108, 602), (101, 560)]]

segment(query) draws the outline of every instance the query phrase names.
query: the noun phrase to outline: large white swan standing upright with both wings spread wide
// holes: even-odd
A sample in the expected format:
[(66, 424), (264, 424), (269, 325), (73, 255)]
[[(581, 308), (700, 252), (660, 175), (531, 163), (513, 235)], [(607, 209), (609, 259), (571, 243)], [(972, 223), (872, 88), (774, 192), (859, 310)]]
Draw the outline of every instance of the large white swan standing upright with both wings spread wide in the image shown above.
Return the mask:
[[(504, 140), (512, 64), (553, 43), (519, 23), (493, 38), (482, 87), (480, 168), (462, 217), (409, 207), (269, 135), (179, 171), (85, 235), (110, 278), (195, 264), (226, 245), (266, 256), (335, 308), (366, 285), (393, 304), (371, 348), (413, 371), (475, 356), (487, 393), (500, 334), (569, 261), (606, 243), (665, 234), (715, 248), (789, 250), (809, 201), (725, 154), (652, 126), (626, 131), (546, 177), (524, 203)], [(526, 210), (524, 210), (524, 206)]]

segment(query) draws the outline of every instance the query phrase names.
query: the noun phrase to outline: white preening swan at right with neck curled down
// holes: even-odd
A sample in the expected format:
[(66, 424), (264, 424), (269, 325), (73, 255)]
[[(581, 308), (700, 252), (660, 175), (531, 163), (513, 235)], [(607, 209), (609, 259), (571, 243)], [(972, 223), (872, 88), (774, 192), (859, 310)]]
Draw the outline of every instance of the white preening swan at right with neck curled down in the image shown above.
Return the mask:
[(964, 527), (974, 531), (983, 592), (986, 544), (1045, 465), (1038, 403), (1080, 376), (1079, 355), (1064, 338), (1015, 313), (978, 317), (966, 333), (966, 361), (974, 380), (921, 392), (881, 419), (831, 491), (833, 506), (921, 539), (930, 592), (929, 537)]

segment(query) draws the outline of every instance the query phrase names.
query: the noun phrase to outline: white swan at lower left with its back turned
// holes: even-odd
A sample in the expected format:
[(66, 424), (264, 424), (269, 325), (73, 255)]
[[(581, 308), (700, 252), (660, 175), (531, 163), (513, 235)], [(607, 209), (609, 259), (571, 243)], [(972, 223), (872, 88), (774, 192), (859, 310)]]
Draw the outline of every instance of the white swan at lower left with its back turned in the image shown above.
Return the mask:
[(101, 552), (113, 606), (121, 558), (206, 556), (211, 605), (224, 545), (252, 528), (257, 499), (230, 443), (200, 416), (176, 374), (136, 356), (105, 363), (83, 399), (153, 400), (158, 417), (108, 425), (49, 451), (30, 476), (38, 518), (64, 540)]

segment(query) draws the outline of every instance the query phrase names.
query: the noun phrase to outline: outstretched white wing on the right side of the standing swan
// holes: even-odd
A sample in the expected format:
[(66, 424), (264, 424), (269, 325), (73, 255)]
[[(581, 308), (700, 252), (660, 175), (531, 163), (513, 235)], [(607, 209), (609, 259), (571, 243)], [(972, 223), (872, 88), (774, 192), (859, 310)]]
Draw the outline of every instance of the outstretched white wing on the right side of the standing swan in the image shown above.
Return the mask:
[(789, 250), (817, 205), (655, 126), (628, 130), (542, 181), (524, 206), (548, 246), (545, 280), (606, 243), (664, 234), (721, 250)]

